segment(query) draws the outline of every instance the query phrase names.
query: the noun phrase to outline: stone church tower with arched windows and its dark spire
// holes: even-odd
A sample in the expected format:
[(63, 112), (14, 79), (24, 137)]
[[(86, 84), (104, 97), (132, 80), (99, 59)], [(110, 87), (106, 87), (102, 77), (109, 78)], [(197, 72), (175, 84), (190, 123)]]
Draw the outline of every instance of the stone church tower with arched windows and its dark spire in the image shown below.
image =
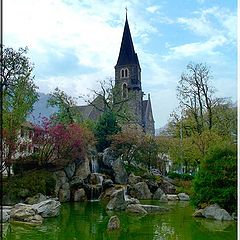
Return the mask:
[(115, 66), (115, 87), (118, 89), (118, 98), (127, 99), (127, 111), (131, 114), (133, 122), (144, 127), (141, 67), (134, 50), (127, 13), (122, 43)]

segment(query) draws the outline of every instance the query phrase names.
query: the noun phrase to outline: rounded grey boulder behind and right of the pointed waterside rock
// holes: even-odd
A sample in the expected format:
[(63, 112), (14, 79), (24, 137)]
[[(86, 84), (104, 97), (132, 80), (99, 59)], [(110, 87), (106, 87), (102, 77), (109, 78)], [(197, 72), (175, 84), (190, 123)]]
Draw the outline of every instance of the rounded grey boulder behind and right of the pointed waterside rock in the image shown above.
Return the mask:
[(139, 182), (131, 186), (129, 193), (137, 199), (151, 199), (152, 194), (145, 182)]

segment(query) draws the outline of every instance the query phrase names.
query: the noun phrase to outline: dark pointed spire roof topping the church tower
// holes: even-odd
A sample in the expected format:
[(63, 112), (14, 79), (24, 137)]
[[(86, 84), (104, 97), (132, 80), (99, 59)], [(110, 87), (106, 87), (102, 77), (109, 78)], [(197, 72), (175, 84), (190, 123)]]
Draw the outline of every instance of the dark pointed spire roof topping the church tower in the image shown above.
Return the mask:
[(123, 36), (122, 36), (122, 43), (121, 43), (121, 48), (120, 48), (116, 66), (127, 65), (127, 64), (139, 65), (139, 61), (133, 46), (131, 32), (128, 25), (127, 8), (126, 8), (126, 21), (125, 21), (125, 26), (124, 26)]

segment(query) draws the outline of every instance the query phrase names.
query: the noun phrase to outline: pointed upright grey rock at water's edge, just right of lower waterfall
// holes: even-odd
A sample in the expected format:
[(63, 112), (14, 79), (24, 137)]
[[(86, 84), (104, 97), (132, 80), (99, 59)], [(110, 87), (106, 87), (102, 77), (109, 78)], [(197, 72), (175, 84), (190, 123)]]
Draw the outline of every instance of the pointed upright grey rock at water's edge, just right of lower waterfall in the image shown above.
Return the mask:
[(112, 194), (110, 201), (107, 204), (107, 210), (124, 210), (127, 204), (124, 198), (124, 190), (117, 190)]

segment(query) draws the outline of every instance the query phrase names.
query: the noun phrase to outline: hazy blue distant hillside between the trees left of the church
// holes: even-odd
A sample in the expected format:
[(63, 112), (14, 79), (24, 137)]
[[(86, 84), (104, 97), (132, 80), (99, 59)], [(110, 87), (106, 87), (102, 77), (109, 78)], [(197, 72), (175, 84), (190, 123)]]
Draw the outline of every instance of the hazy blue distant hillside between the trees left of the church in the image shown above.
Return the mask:
[(28, 121), (38, 122), (40, 117), (50, 117), (51, 114), (57, 112), (56, 107), (47, 107), (47, 101), (50, 98), (49, 94), (38, 93), (39, 100), (33, 105), (33, 112), (28, 116)]

